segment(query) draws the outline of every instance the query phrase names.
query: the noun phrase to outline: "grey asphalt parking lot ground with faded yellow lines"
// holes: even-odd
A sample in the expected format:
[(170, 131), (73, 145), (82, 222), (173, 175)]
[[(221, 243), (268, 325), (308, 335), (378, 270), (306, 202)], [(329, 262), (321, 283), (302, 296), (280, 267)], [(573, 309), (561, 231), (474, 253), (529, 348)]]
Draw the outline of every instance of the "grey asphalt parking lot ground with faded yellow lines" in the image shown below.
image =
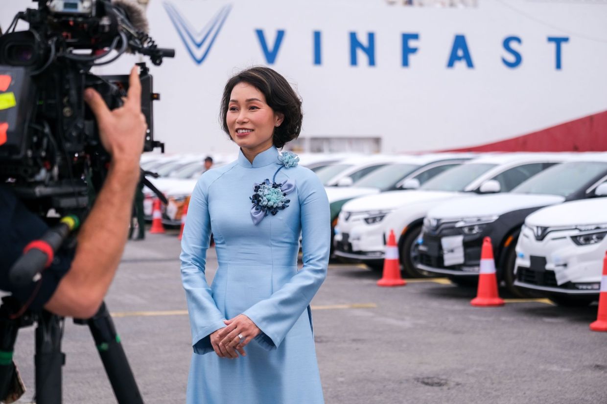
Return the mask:
[[(146, 403), (185, 402), (191, 346), (179, 252), (177, 231), (130, 241), (106, 299)], [(209, 279), (216, 264), (211, 249)], [(595, 305), (503, 295), (503, 307), (475, 308), (474, 289), (442, 278), (379, 288), (379, 277), (331, 264), (314, 298), (327, 403), (607, 403), (607, 333), (588, 329)], [(33, 396), (33, 334), (23, 329), (16, 346), (29, 388), (19, 403)], [(64, 403), (115, 402), (88, 329), (67, 320), (63, 350)]]

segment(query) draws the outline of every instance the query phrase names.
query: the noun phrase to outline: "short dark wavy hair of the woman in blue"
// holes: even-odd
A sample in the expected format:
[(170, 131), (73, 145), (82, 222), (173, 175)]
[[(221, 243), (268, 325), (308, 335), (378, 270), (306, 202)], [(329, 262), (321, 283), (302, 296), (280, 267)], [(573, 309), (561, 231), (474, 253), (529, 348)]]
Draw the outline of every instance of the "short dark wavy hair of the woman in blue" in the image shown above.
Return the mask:
[(266, 104), (274, 112), (280, 112), (285, 116), (280, 126), (274, 128), (272, 138), (274, 146), (280, 149), (280, 147), (285, 146), (285, 143), (297, 139), (302, 129), (302, 118), (304, 117), (302, 100), (280, 73), (264, 66), (254, 66), (243, 70), (232, 76), (226, 83), (223, 89), (220, 113), (223, 131), (228, 133), (229, 136), (226, 115), (228, 114), (230, 95), (234, 86), (240, 82), (247, 82), (256, 87), (265, 96)]

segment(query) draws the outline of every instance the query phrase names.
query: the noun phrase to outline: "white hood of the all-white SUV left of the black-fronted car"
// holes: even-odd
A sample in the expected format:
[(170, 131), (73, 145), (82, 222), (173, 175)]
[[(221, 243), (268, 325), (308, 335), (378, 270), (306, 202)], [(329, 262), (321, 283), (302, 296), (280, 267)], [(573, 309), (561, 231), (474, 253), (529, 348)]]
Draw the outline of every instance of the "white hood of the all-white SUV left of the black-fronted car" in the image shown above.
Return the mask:
[(424, 190), (395, 190), (382, 192), (378, 195), (356, 198), (344, 204), (342, 210), (347, 212), (366, 212), (367, 210), (393, 210), (407, 204), (423, 203), (425, 201), (441, 200), (459, 192), (424, 191)]

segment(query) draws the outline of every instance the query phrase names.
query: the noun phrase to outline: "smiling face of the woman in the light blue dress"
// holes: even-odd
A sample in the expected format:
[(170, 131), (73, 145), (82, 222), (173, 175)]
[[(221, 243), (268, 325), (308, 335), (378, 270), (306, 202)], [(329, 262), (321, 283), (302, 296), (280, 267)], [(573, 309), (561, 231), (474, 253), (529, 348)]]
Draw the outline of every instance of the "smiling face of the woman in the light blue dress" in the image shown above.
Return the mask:
[(232, 89), (226, 113), (229, 135), (236, 144), (250, 151), (263, 151), (272, 146), (274, 128), (280, 126), (282, 113), (266, 104), (265, 96), (248, 82)]

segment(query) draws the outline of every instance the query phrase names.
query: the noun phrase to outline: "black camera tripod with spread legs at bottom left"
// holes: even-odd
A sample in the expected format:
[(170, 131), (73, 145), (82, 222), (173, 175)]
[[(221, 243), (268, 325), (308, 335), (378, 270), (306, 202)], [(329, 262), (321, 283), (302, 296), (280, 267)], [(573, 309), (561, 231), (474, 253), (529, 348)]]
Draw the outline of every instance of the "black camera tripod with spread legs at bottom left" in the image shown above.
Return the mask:
[[(6, 397), (16, 377), (13, 349), (19, 328), (37, 323), (35, 332), (35, 381), (36, 403), (61, 404), (61, 366), (65, 354), (61, 352), (64, 318), (48, 311), (25, 312), (11, 318), (15, 306), (12, 297), (2, 298), (0, 306), (0, 400)], [(105, 303), (101, 303), (97, 314), (87, 320), (74, 319), (76, 324), (88, 325), (99, 351), (117, 402), (119, 404), (143, 404), (135, 377), (124, 354), (112, 317)]]

